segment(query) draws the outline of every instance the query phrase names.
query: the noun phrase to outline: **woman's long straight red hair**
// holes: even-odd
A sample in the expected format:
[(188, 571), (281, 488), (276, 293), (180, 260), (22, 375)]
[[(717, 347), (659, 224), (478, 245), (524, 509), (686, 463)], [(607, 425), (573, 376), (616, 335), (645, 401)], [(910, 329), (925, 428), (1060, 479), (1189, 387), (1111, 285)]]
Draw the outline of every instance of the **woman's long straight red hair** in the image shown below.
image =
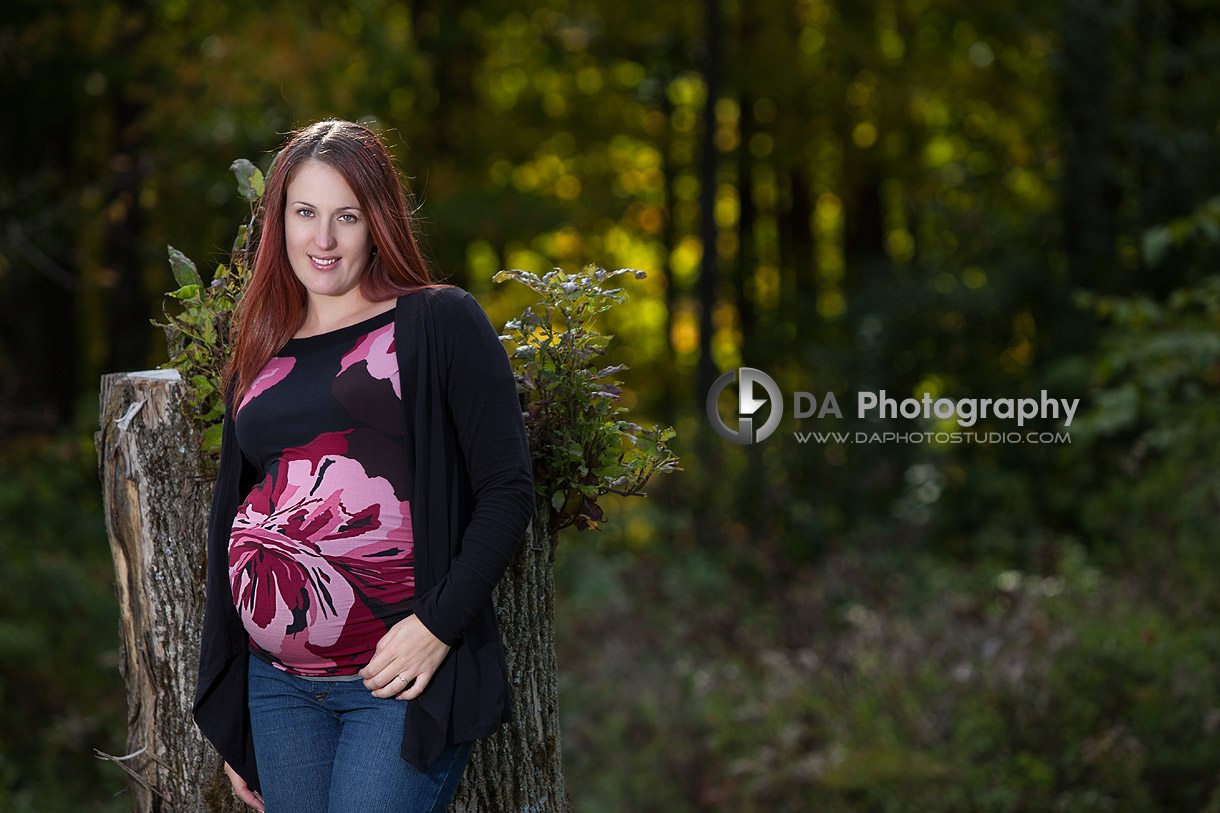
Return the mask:
[(272, 161), (254, 272), (234, 314), (233, 358), (224, 371), (226, 391), (234, 387), (234, 408), (304, 319), (305, 287), (288, 260), (284, 208), (288, 182), (306, 161), (337, 170), (368, 217), (376, 249), (360, 280), (365, 297), (382, 302), (434, 284), (411, 229), (404, 182), (381, 138), (349, 121), (320, 121), (298, 131)]

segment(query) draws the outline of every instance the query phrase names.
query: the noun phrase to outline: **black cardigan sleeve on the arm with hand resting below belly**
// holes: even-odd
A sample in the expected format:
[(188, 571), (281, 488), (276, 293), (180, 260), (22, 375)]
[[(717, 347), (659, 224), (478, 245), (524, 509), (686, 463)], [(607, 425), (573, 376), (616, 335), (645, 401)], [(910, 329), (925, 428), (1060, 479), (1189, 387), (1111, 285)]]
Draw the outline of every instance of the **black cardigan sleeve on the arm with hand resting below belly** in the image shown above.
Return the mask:
[(467, 292), (433, 302), (444, 406), (473, 505), (448, 573), (414, 609), (453, 645), (508, 570), (533, 516), (534, 488), (516, 381), (495, 328)]

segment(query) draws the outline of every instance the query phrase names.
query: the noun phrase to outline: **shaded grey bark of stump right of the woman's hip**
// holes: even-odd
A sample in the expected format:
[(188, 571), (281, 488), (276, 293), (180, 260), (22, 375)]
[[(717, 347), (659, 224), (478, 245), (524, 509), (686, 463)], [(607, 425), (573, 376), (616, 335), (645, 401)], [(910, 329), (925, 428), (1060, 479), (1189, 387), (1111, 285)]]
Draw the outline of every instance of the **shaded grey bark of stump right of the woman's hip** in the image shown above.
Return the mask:
[(475, 745), (454, 813), (566, 813), (555, 664), (555, 541), (540, 504), (495, 590), (512, 721)]

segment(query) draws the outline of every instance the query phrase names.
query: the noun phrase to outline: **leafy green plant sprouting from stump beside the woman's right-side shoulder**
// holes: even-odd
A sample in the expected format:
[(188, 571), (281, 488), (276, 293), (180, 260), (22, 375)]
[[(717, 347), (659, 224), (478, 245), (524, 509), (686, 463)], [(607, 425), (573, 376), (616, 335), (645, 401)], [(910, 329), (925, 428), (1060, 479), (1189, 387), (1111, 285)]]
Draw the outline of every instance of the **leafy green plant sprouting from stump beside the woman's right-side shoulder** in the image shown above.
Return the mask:
[(601, 283), (643, 271), (588, 265), (543, 276), (500, 271), (495, 282), (527, 286), (542, 300), (504, 326), (517, 389), (526, 396), (526, 425), (534, 444), (534, 482), (551, 510), (551, 527), (597, 529), (604, 516), (598, 499), (608, 493), (644, 496), (653, 474), (677, 470), (665, 446), (672, 427), (647, 428), (623, 417), (622, 389), (614, 376), (626, 365), (599, 366), (611, 336), (593, 328), (595, 319), (623, 303), (622, 288)]

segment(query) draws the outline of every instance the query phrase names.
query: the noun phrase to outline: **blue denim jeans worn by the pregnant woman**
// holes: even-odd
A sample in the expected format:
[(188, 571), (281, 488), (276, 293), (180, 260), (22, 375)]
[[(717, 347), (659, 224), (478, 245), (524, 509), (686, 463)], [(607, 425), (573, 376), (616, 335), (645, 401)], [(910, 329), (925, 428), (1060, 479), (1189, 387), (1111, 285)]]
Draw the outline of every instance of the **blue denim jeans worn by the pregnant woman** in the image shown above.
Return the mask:
[(406, 702), (361, 680), (314, 681), (250, 656), (250, 720), (267, 813), (445, 811), (472, 743), (449, 746), (427, 773), (403, 759)]

